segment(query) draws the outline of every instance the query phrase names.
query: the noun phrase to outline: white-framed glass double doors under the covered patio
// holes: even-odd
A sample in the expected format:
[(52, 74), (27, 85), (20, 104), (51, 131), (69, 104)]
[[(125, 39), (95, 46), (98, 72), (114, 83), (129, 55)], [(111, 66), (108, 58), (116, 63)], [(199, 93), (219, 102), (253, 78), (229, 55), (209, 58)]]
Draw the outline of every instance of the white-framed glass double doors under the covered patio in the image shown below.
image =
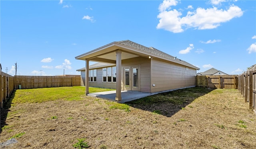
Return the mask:
[(124, 67), (124, 90), (140, 91), (140, 67)]

